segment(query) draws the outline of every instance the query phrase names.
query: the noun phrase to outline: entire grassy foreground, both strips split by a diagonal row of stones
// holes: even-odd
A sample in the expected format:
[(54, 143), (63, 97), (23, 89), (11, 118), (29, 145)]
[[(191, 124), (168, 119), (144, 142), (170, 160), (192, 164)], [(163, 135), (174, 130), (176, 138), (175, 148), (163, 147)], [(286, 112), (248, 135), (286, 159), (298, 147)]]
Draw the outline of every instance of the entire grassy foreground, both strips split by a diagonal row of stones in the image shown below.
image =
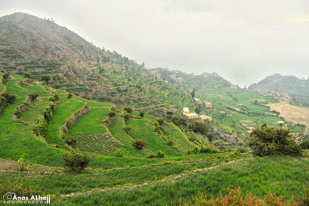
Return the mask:
[[(240, 158), (241, 155), (238, 157)], [(243, 157), (242, 157), (243, 158)], [(90, 195), (52, 199), (52, 205), (180, 205), (189, 203), (192, 196), (203, 192), (206, 199), (227, 195), (226, 188), (241, 188), (242, 195), (263, 198), (269, 191), (284, 200), (300, 201), (309, 187), (309, 158), (291, 156), (269, 156), (231, 162), (213, 170), (191, 172), (182, 178), (161, 182), (167, 175), (209, 167), (222, 159), (201, 162), (170, 163), (136, 169), (85, 173), (80, 175), (21, 174), (25, 187), (40, 185), (44, 194), (70, 194), (71, 192), (93, 190)], [(17, 173), (0, 174), (1, 184), (14, 181)], [(113, 180), (113, 181), (111, 181)], [(114, 186), (142, 184), (156, 181), (154, 185), (143, 185), (131, 190), (107, 189)], [(104, 189), (104, 191), (101, 191)]]

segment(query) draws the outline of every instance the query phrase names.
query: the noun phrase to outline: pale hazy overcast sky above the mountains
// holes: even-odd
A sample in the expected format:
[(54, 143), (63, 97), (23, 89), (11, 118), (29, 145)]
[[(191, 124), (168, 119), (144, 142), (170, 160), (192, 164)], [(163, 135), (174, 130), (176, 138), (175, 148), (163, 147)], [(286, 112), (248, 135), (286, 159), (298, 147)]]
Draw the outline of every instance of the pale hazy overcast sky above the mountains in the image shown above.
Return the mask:
[(99, 47), (247, 87), (274, 73), (309, 76), (308, 0), (0, 0), (0, 16), (53, 18)]

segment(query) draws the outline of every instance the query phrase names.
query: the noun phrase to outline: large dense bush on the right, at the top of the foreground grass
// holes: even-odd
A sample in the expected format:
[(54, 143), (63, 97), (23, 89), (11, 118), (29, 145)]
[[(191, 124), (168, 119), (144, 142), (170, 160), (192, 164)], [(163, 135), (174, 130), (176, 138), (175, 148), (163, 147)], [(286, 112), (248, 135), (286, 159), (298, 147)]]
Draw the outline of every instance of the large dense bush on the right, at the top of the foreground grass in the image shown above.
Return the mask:
[(297, 139), (303, 134), (291, 134), (292, 128), (271, 128), (267, 124), (262, 124), (261, 128), (253, 129), (249, 137), (249, 146), (256, 156), (266, 156), (276, 153), (300, 155), (302, 148)]

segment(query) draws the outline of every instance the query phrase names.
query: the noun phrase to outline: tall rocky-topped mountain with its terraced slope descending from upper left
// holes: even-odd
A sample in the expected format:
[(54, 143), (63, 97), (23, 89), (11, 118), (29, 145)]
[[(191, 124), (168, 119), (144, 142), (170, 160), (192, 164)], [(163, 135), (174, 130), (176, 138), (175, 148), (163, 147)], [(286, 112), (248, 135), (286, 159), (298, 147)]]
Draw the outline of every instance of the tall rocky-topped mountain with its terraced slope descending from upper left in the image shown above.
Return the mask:
[(44, 75), (59, 77), (49, 85), (152, 113), (178, 109), (190, 96), (116, 51), (97, 48), (53, 21), (23, 13), (0, 18), (0, 72), (30, 73), (39, 81)]

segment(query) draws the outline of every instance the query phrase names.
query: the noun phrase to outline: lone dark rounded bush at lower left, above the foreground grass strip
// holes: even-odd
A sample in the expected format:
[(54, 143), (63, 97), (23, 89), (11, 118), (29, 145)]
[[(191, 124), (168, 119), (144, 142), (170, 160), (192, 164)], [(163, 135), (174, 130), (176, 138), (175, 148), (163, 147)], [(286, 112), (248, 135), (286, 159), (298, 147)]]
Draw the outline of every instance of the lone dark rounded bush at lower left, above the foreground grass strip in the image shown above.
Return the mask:
[(89, 164), (91, 157), (88, 153), (76, 153), (71, 150), (70, 153), (62, 154), (63, 165), (67, 173), (82, 173)]

